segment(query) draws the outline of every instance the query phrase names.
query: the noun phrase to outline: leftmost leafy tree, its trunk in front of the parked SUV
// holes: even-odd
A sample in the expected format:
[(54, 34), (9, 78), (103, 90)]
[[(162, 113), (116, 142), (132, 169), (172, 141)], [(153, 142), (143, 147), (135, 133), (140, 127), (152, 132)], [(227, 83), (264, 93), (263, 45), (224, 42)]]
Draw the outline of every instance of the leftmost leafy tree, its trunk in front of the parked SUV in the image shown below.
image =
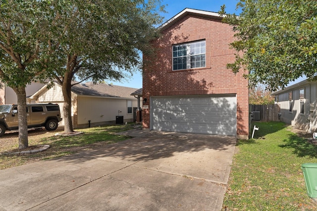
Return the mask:
[(19, 149), (28, 147), (25, 86), (49, 78), (49, 5), (46, 1), (0, 1), (0, 81), (17, 95)]

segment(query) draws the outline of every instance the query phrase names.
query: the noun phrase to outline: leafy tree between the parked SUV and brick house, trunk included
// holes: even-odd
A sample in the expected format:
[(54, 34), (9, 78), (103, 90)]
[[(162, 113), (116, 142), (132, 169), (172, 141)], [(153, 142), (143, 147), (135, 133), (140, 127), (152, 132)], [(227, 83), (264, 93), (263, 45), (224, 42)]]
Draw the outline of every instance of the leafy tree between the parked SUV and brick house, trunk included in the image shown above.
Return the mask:
[(151, 51), (148, 43), (157, 36), (161, 11), (160, 0), (52, 1), (48, 27), (57, 49), (54, 77), (62, 86), (65, 133), (73, 131), (71, 86), (133, 74), (142, 65), (140, 51)]

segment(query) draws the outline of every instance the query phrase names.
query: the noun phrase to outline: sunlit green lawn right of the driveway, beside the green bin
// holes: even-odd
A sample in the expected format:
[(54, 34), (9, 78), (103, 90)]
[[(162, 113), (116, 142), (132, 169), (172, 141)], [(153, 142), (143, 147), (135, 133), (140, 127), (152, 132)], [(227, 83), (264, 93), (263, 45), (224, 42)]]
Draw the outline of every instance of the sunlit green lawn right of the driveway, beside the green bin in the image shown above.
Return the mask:
[(317, 146), (280, 122), (256, 126), (254, 139), (237, 142), (222, 210), (317, 210), (301, 169), (317, 163)]

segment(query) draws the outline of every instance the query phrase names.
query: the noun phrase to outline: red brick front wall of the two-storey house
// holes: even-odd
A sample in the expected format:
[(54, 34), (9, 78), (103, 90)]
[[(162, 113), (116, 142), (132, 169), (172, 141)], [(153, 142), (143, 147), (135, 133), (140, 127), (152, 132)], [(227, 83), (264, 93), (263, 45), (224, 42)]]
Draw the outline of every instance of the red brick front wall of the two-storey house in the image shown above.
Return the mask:
[[(237, 94), (237, 136), (249, 134), (248, 81), (232, 73), (227, 63), (235, 59), (230, 49), (233, 32), (220, 20), (187, 15), (162, 32), (151, 44), (155, 52), (143, 56), (143, 99), (150, 96)], [(172, 71), (172, 45), (206, 40), (206, 67)], [(143, 127), (150, 128), (150, 111), (143, 113)]]

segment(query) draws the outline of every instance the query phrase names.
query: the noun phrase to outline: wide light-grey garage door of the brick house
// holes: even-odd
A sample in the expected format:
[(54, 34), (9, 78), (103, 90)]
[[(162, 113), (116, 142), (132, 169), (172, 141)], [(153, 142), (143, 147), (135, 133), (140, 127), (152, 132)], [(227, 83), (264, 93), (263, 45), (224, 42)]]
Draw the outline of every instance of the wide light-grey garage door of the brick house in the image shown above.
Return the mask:
[(236, 135), (236, 96), (151, 97), (151, 129)]

